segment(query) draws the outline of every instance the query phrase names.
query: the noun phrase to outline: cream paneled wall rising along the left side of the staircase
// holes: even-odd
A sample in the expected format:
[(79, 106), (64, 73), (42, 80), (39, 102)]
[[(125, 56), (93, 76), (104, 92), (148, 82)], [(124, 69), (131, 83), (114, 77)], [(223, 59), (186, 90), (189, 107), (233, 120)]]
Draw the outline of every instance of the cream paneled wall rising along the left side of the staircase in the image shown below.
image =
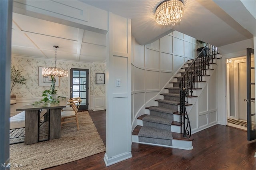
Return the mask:
[(195, 38), (174, 31), (147, 45), (132, 41), (132, 115), (159, 94), (180, 66), (198, 55)]

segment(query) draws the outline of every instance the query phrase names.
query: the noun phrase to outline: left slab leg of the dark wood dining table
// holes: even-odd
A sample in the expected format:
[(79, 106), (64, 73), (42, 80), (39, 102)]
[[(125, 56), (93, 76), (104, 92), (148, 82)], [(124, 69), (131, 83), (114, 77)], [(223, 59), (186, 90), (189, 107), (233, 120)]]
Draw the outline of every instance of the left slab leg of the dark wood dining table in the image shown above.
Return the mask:
[(25, 112), (25, 145), (38, 142), (38, 114), (38, 110)]

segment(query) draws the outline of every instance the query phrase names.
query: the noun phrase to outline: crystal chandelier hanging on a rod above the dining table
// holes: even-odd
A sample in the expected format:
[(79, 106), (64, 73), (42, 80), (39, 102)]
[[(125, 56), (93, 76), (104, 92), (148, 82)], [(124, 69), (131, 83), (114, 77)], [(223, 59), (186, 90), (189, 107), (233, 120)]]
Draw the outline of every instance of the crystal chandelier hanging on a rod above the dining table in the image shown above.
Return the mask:
[(57, 60), (57, 45), (54, 45), (55, 48), (55, 67), (44, 67), (42, 68), (42, 75), (43, 76), (58, 76), (58, 77), (68, 77), (68, 70), (61, 69), (56, 67), (56, 60)]

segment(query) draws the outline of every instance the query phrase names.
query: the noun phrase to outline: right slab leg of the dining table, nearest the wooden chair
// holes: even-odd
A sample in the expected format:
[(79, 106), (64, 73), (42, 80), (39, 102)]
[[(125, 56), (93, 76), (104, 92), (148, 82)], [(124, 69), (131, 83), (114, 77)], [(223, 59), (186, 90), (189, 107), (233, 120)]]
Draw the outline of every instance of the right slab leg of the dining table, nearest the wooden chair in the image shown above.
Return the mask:
[(50, 109), (50, 134), (49, 139), (60, 138), (60, 119), (61, 119), (61, 108)]

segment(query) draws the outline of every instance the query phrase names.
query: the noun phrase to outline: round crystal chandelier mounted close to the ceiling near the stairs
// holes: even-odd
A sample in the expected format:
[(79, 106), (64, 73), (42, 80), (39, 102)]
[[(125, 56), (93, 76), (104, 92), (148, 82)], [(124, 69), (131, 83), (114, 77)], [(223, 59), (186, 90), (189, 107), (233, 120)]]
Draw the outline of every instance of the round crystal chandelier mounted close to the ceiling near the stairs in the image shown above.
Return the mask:
[(165, 0), (156, 7), (156, 23), (173, 26), (180, 22), (184, 11), (182, 0)]

